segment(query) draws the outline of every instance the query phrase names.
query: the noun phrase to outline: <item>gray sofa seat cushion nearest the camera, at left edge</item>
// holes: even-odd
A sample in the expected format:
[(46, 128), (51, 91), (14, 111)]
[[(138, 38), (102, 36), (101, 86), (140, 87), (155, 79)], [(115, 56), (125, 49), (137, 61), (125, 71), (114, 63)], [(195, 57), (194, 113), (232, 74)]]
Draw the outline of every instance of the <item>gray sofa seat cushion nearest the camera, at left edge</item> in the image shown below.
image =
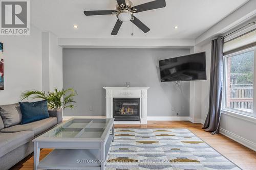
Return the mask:
[(21, 131), (14, 133), (0, 132), (0, 157), (31, 141), (33, 138), (33, 131)]

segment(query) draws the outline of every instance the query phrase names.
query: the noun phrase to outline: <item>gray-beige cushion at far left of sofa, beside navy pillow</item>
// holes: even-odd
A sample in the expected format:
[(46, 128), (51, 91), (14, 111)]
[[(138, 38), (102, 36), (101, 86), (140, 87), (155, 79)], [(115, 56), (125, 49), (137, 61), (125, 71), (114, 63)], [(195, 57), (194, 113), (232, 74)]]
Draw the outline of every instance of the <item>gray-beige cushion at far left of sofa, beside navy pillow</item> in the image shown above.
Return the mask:
[(0, 115), (5, 128), (17, 125), (22, 121), (22, 114), (18, 104), (0, 106)]

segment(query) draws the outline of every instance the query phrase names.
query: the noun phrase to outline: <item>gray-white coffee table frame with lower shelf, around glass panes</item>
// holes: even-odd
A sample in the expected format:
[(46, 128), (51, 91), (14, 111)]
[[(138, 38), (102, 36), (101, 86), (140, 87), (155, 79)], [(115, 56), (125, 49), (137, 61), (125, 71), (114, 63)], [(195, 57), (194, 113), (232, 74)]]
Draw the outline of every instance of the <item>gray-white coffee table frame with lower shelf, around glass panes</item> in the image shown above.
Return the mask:
[[(88, 118), (71, 118), (67, 122), (58, 125), (49, 132), (62, 128), (73, 120), (90, 120), (86, 126), (90, 126), (93, 120)], [(102, 118), (101, 118), (102, 119)], [(106, 156), (114, 141), (114, 118), (108, 119), (108, 124), (103, 128), (101, 137), (45, 137), (44, 134), (33, 140), (34, 142), (34, 170), (37, 169), (86, 169), (104, 170)], [(84, 127), (77, 135), (86, 129)], [(97, 130), (100, 128), (92, 128)], [(49, 133), (46, 132), (46, 133)], [(76, 136), (77, 136), (76, 135)], [(39, 162), (40, 149), (54, 149), (49, 155)], [(95, 160), (89, 162), (88, 160)]]

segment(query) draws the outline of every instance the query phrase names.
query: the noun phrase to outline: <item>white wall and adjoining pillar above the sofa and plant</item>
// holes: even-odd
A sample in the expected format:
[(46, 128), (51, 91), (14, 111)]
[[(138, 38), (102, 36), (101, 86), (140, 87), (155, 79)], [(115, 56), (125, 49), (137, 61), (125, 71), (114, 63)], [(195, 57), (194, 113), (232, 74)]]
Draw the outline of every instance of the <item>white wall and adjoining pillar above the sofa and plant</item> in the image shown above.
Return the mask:
[[(25, 90), (46, 90), (42, 87), (47, 84), (47, 90), (62, 88), (62, 47), (57, 36), (47, 35), (31, 25), (30, 36), (0, 36), (5, 83), (5, 90), (0, 90), (0, 105), (17, 103)], [(42, 58), (46, 55), (48, 59)]]

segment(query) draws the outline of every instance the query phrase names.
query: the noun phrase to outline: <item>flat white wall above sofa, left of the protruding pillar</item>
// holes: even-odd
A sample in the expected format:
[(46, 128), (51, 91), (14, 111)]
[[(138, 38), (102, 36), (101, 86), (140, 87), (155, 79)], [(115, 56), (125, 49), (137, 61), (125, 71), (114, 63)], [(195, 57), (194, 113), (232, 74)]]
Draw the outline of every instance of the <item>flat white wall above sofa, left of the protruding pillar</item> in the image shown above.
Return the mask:
[(19, 101), (25, 90), (42, 89), (41, 32), (31, 26), (30, 36), (0, 36), (4, 43), (4, 85), (0, 105)]

